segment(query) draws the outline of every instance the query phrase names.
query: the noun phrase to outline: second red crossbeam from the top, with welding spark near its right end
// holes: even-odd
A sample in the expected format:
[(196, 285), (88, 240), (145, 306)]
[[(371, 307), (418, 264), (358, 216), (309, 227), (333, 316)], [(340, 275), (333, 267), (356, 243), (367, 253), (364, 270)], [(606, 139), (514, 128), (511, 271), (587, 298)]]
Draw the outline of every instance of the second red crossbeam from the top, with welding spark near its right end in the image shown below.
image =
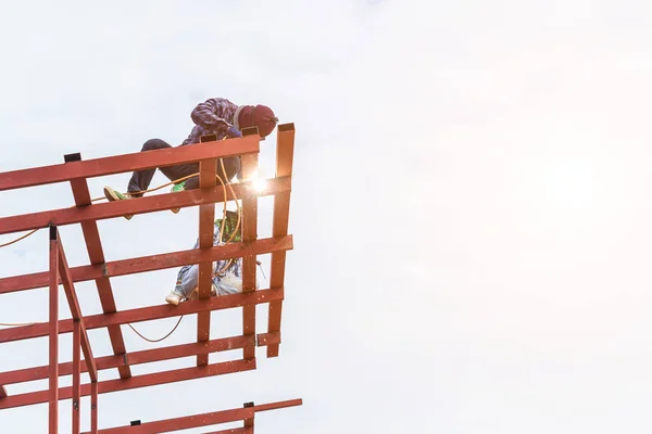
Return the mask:
[[(290, 183), (291, 181), (289, 178), (271, 179), (267, 182), (268, 188), (263, 193), (255, 192), (249, 182), (238, 182), (233, 184), (233, 188), (238, 197), (248, 197), (251, 195), (273, 195), (279, 192), (289, 191)], [(218, 202), (224, 202), (224, 191), (222, 190), (222, 186), (206, 191), (203, 189), (195, 189), (179, 191), (177, 193), (153, 194), (150, 196), (133, 199), (130, 201), (98, 203), (85, 208), (73, 206), (70, 208), (2, 217), (0, 218), (0, 234), (45, 228), (49, 225), (74, 225), (88, 220), (104, 220), (108, 218), (122, 217), (127, 214), (148, 214), (171, 208), (186, 208), (189, 206)]]

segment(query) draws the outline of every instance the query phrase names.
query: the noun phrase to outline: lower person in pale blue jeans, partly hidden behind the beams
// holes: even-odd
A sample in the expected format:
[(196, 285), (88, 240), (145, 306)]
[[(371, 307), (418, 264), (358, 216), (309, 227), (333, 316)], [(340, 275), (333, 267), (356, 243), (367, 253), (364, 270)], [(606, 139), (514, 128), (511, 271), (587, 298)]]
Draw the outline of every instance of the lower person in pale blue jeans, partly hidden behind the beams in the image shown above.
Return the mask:
[[(236, 227), (238, 226), (238, 213), (230, 210), (226, 212), (226, 222), (224, 225), (224, 232), (222, 235), (222, 243), (220, 242), (220, 230), (222, 226), (222, 219), (215, 220), (213, 231), (213, 245), (221, 245), (226, 243)], [(240, 242), (241, 238), (240, 224), (238, 232), (231, 239), (231, 242)], [(199, 247), (199, 238), (192, 248)], [(199, 265), (187, 265), (181, 267), (177, 275), (177, 280), (174, 290), (165, 297), (165, 301), (171, 305), (178, 305), (187, 299), (195, 299), (198, 297), (198, 282), (199, 282)], [(242, 258), (222, 259), (213, 263), (213, 278), (211, 295), (228, 295), (242, 292)]]

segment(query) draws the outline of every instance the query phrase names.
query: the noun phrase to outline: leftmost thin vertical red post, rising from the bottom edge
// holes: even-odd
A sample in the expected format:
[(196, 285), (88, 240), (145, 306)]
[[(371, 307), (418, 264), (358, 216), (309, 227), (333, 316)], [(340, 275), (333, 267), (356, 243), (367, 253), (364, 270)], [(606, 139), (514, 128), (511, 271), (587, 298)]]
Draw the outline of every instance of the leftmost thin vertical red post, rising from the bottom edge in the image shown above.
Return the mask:
[(59, 240), (50, 226), (50, 434), (59, 432)]

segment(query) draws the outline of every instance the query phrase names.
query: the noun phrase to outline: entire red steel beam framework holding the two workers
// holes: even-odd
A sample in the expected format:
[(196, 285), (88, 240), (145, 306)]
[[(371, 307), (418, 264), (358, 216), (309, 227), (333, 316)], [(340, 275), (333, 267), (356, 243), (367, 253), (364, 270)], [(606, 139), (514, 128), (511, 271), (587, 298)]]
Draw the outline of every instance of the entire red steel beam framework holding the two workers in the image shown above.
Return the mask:
[[(225, 141), (214, 136), (203, 137), (201, 143), (192, 146), (178, 146), (170, 150), (133, 153), (89, 161), (82, 161), (79, 154), (65, 155), (64, 164), (43, 166), (0, 174), (0, 191), (54, 182), (70, 182), (75, 206), (0, 218), (0, 234), (49, 227), (50, 269), (43, 272), (0, 279), (0, 294), (49, 288), (49, 321), (32, 326), (21, 326), (0, 330), (0, 344), (5, 342), (49, 336), (49, 365), (25, 368), (0, 373), (0, 409), (49, 403), (49, 433), (58, 433), (59, 400), (73, 399), (73, 433), (80, 432), (80, 398), (91, 396), (91, 433), (150, 433), (171, 432), (193, 426), (241, 420), (241, 429), (220, 431), (220, 433), (253, 433), (253, 414), (275, 408), (301, 405), (301, 399), (275, 403), (264, 406), (246, 405), (242, 409), (214, 413), (189, 416), (166, 421), (149, 422), (138, 426), (124, 426), (99, 430), (98, 395), (146, 387), (177, 381), (221, 375), (256, 368), (255, 347), (266, 346), (267, 357), (278, 356), (280, 344), (280, 312), (285, 297), (284, 275), (286, 252), (292, 248), (292, 237), (288, 234), (289, 200), (291, 190), (294, 126), (278, 126), (276, 143), (276, 176), (267, 180), (264, 191), (252, 189), (251, 178), (258, 171), (260, 137), (258, 130), (246, 129), (243, 137)], [(213, 246), (213, 220), (215, 204), (233, 200), (215, 175), (221, 173), (220, 158), (239, 155), (242, 164), (243, 181), (231, 184), (235, 194), (241, 200), (242, 241), (224, 246)], [(172, 166), (184, 163), (199, 163), (197, 190), (177, 193), (153, 194), (130, 201), (91, 204), (87, 178), (112, 174), (141, 170), (146, 168)], [(228, 191), (227, 191), (228, 193)], [(258, 197), (274, 196), (273, 234), (268, 239), (258, 239)], [(106, 263), (102, 250), (97, 220), (138, 215), (152, 212), (199, 206), (199, 248), (171, 252)], [(68, 267), (58, 227), (82, 226), (90, 264)], [(269, 289), (255, 290), (256, 256), (272, 254)], [(228, 296), (210, 296), (211, 264), (214, 260), (233, 257), (243, 259), (242, 293)], [(179, 306), (158, 305), (118, 311), (115, 306), (110, 278), (146, 271), (199, 264), (199, 297)], [(102, 314), (84, 316), (76, 295), (75, 283), (92, 280), (96, 282)], [(63, 285), (71, 309), (71, 319), (59, 318), (59, 286)], [(267, 303), (269, 320), (266, 333), (255, 331), (255, 306)], [(242, 335), (211, 340), (209, 335), (211, 311), (242, 307)], [(121, 324), (149, 321), (180, 315), (198, 315), (197, 342), (155, 349), (127, 353)], [(87, 331), (106, 328), (113, 355), (96, 358), (92, 355)], [(59, 361), (59, 335), (73, 333), (72, 362)], [(209, 354), (230, 349), (242, 349), (242, 359), (209, 365)], [(82, 354), (84, 363), (82, 362)], [(134, 376), (130, 366), (197, 356), (197, 366)], [(117, 369), (120, 379), (99, 381), (99, 371)], [(90, 383), (82, 384), (80, 374), (87, 372)], [(70, 387), (59, 387), (60, 375), (73, 375)], [(5, 385), (34, 380), (49, 379), (46, 391), (12, 395)]]

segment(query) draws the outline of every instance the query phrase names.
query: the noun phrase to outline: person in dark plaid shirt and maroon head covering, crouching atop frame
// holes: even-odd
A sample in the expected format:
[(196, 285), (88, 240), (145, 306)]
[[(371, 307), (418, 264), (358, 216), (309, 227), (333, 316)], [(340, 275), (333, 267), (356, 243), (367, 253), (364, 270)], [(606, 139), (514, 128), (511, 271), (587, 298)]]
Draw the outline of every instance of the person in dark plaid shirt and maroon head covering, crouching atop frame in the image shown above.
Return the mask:
[[(274, 130), (278, 123), (278, 118), (274, 115), (272, 108), (265, 105), (236, 105), (224, 98), (211, 98), (198, 104), (190, 113), (190, 118), (195, 123), (195, 127), (188, 138), (180, 144), (181, 146), (199, 143), (201, 136), (212, 133), (216, 135), (217, 140), (226, 137), (241, 137), (242, 133), (240, 130), (242, 128), (254, 126), (258, 127), (261, 138), (265, 138)], [(161, 139), (151, 139), (145, 142), (141, 152), (167, 148), (173, 146)], [(240, 157), (223, 158), (223, 163), (227, 178), (223, 180), (224, 182), (229, 182), (240, 171)], [(159, 169), (167, 179), (176, 181), (177, 179), (199, 173), (199, 164), (181, 164), (178, 166), (159, 167)], [(155, 171), (155, 168), (135, 171), (129, 180), (127, 194), (122, 194), (111, 187), (104, 187), (104, 196), (109, 201), (140, 197), (143, 195), (142, 191), (149, 188)], [(224, 178), (220, 164), (217, 165), (217, 174)], [(199, 176), (195, 176), (175, 183), (172, 191), (192, 190), (198, 187)], [(178, 213), (178, 208), (173, 209), (173, 213)], [(125, 216), (127, 220), (130, 220), (131, 217), (131, 215)]]

